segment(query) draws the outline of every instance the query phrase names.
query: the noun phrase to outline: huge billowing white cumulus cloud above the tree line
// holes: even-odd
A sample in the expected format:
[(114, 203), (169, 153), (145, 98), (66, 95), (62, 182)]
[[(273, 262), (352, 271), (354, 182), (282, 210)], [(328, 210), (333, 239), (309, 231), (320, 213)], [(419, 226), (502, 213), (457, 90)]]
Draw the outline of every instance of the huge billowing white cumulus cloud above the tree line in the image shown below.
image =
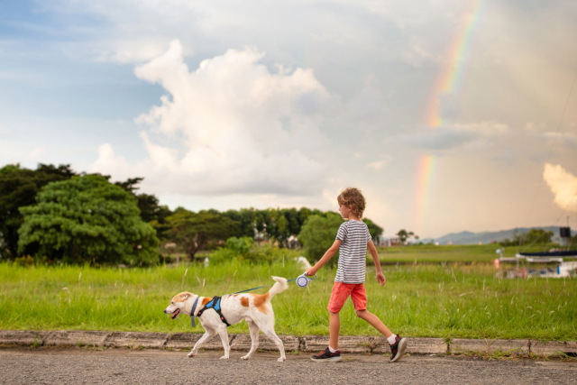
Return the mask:
[[(318, 126), (334, 101), (311, 69), (278, 74), (254, 48), (227, 50), (194, 71), (172, 41), (134, 73), (168, 92), (136, 118), (148, 158), (133, 166), (103, 144), (91, 170), (138, 175), (157, 193), (321, 194)], [(157, 138), (155, 142), (152, 138)]]

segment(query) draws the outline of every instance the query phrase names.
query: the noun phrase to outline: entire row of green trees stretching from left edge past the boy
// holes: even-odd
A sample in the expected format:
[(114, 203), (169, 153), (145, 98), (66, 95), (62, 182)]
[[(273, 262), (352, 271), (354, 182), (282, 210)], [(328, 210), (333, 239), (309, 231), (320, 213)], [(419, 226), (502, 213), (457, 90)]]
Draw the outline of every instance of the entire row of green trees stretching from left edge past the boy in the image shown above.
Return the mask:
[[(193, 260), (197, 252), (248, 237), (279, 247), (305, 245), (309, 259), (332, 237), (340, 215), (307, 207), (170, 210), (140, 193), (142, 178), (110, 182), (110, 176), (77, 173), (69, 165), (19, 164), (0, 169), (0, 257), (63, 263), (154, 264), (160, 245), (172, 243)], [(307, 223), (314, 224), (316, 227)], [(365, 218), (373, 238), (382, 228)], [(305, 232), (303, 232), (305, 230)], [(326, 234), (334, 232), (327, 237)], [(323, 246), (324, 247), (324, 246)]]

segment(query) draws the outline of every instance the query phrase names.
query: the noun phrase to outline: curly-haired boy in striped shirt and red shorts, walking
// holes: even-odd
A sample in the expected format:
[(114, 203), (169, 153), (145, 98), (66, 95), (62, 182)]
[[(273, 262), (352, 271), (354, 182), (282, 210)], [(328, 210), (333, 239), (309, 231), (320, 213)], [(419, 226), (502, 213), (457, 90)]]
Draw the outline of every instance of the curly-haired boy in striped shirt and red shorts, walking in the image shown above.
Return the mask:
[(333, 246), (325, 252), (320, 261), (316, 262), (315, 266), (307, 269), (306, 272), (307, 276), (314, 276), (316, 271), (333, 258), (337, 250), (340, 251), (333, 291), (327, 307), (330, 313), (330, 344), (325, 349), (325, 352), (312, 356), (311, 360), (316, 362), (341, 361), (341, 352), (337, 350), (339, 329), (341, 328), (339, 311), (341, 311), (346, 298), (351, 296), (357, 316), (367, 321), (387, 338), (392, 352), (390, 362), (396, 362), (405, 353), (407, 338), (393, 335), (378, 316), (374, 316), (367, 311), (367, 297), (363, 285), (367, 245), (372, 259), (375, 261), (377, 280), (380, 286), (383, 286), (386, 280), (382, 270), (380, 270), (379, 254), (374, 243), (372, 243), (369, 228), (361, 220), (365, 208), (364, 197), (362, 197), (362, 193), (358, 188), (345, 188), (336, 200), (339, 203), (339, 212), (343, 219), (348, 219), (348, 221), (339, 227)]

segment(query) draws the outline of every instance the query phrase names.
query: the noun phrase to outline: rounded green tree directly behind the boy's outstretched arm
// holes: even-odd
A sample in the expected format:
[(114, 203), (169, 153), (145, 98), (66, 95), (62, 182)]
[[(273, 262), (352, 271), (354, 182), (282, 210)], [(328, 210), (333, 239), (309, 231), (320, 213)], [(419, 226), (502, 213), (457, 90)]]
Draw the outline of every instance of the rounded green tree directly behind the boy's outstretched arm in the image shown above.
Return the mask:
[[(333, 245), (339, 226), (343, 224), (341, 215), (327, 213), (310, 215), (298, 234), (298, 242), (303, 244), (305, 257), (311, 263), (320, 260), (325, 252)], [(335, 264), (338, 261), (338, 252), (329, 261)]]

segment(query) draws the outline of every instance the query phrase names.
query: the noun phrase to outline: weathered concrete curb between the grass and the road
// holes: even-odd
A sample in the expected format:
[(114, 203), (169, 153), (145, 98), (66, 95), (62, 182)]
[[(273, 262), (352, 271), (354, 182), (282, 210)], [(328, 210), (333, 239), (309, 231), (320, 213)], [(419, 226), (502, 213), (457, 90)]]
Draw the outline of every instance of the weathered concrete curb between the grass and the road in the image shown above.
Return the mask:
[[(136, 333), (100, 332), (83, 330), (57, 330), (53, 332), (35, 330), (0, 330), (0, 344), (8, 345), (88, 345), (150, 349), (192, 349), (201, 334), (194, 333)], [(287, 352), (320, 352), (328, 345), (328, 335), (279, 335)], [(266, 335), (259, 336), (259, 349), (276, 351)], [(231, 349), (248, 351), (251, 348), (250, 335), (229, 335)], [(218, 336), (203, 345), (206, 350), (223, 350)], [(339, 350), (343, 353), (389, 353), (389, 344), (384, 337), (341, 335)], [(539, 340), (467, 340), (443, 338), (409, 338), (408, 353), (533, 353), (536, 355), (576, 354), (577, 341)]]

